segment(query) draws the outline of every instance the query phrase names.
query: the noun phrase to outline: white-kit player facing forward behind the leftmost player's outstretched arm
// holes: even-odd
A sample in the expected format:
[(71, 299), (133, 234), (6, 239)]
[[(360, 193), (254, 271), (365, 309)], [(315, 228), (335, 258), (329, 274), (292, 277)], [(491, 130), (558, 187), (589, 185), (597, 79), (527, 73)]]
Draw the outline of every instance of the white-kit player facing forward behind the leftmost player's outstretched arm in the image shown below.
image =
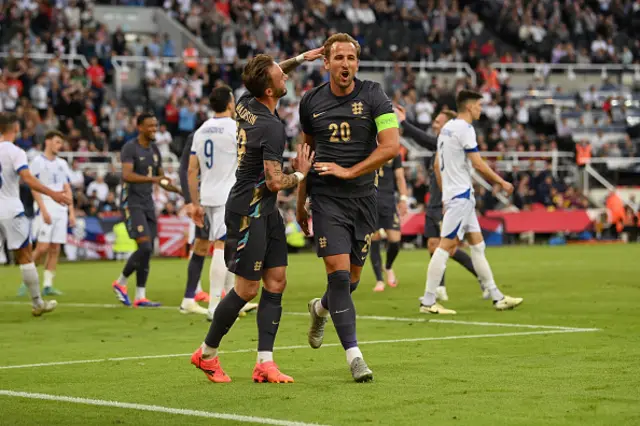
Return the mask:
[[(31, 173), (47, 187), (73, 197), (69, 183), (71, 170), (67, 162), (58, 157), (63, 142), (64, 135), (59, 131), (47, 132), (44, 137), (44, 153), (34, 158), (29, 167)], [(60, 245), (67, 241), (67, 227), (75, 226), (75, 213), (73, 207), (60, 205), (37, 191), (32, 193), (38, 211), (33, 226), (33, 235), (38, 245), (33, 259), (37, 264), (43, 255), (46, 256), (42, 293), (45, 296), (58, 296), (62, 292), (53, 287), (53, 278), (60, 256)], [(26, 288), (24, 290), (26, 292)]]

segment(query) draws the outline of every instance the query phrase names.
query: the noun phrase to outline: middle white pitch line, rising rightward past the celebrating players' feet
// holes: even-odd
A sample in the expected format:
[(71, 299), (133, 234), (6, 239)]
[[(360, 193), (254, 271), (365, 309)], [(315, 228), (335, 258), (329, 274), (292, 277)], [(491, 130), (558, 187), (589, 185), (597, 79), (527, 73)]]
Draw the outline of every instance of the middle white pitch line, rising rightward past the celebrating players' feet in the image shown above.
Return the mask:
[[(540, 330), (540, 331), (521, 331), (514, 333), (498, 333), (498, 334), (468, 334), (459, 336), (440, 336), (440, 337), (416, 337), (409, 339), (391, 339), (391, 340), (370, 340), (364, 342), (358, 342), (360, 345), (379, 345), (384, 343), (409, 343), (409, 342), (430, 342), (435, 340), (461, 340), (461, 339), (490, 339), (494, 337), (513, 337), (513, 336), (534, 336), (541, 334), (558, 334), (558, 333), (585, 333), (598, 331), (596, 328), (584, 328), (576, 330)], [(340, 343), (325, 343), (323, 347), (336, 347), (341, 346)], [(276, 351), (295, 350), (295, 349), (309, 349), (309, 345), (294, 345), (294, 346), (281, 346), (275, 348)], [(220, 351), (220, 354), (239, 354), (255, 352), (255, 349), (238, 349), (233, 351)], [(55, 361), (38, 364), (20, 364), (20, 365), (3, 365), (0, 366), (0, 370), (11, 370), (18, 368), (35, 368), (35, 367), (51, 367), (56, 365), (73, 365), (73, 364), (89, 364), (108, 361), (135, 361), (142, 359), (162, 359), (162, 358), (178, 358), (188, 357), (190, 353), (184, 354), (166, 354), (166, 355), (142, 355), (142, 356), (130, 356), (119, 358), (100, 358), (100, 359), (85, 359), (78, 361)]]

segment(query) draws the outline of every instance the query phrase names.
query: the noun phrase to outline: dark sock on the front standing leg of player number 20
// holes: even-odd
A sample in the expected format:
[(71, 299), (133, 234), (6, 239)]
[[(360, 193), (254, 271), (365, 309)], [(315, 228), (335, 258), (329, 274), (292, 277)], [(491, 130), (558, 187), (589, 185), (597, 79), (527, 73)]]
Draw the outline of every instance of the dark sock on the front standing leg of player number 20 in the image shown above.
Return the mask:
[(349, 271), (336, 271), (328, 275), (327, 299), (331, 307), (331, 320), (342, 347), (347, 350), (358, 346), (356, 338), (356, 307), (351, 299)]

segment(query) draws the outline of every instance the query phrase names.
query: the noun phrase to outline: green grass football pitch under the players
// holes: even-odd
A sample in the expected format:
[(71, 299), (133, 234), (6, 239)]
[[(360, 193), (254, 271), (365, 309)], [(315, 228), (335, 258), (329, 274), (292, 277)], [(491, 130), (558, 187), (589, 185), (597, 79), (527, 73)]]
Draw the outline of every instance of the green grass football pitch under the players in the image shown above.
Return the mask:
[(323, 347), (307, 344), (307, 302), (326, 287), (311, 254), (289, 258), (275, 351), (296, 381), (286, 385), (251, 381), (255, 313), (222, 342), (232, 383), (210, 383), (190, 365), (209, 323), (178, 312), (184, 259), (152, 260), (147, 293), (164, 304), (158, 310), (117, 304), (119, 262), (62, 264), (55, 282), (65, 294), (40, 318), (15, 296), (18, 268), (0, 268), (0, 424), (639, 424), (640, 246), (487, 256), (503, 293), (524, 297), (516, 310), (493, 310), (450, 261), (443, 304), (458, 315), (419, 314), (426, 251), (401, 252), (399, 286), (382, 293), (366, 265), (354, 299), (375, 380), (363, 384), (352, 381), (330, 321)]

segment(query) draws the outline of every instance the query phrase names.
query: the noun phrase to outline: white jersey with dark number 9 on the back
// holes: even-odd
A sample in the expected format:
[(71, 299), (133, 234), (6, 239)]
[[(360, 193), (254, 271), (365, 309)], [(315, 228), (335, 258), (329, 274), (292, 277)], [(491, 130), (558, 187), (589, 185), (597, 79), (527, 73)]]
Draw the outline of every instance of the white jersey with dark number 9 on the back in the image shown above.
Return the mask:
[(236, 121), (210, 118), (193, 135), (191, 155), (200, 163), (200, 204), (223, 206), (236, 183), (238, 152)]

